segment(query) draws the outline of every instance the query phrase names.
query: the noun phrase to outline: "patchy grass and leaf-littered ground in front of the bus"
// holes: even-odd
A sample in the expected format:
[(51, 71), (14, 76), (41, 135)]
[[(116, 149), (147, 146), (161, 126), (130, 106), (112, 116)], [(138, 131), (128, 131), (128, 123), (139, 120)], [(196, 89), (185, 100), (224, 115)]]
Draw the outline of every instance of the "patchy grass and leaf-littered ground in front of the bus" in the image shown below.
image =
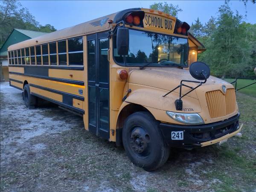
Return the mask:
[[(240, 91), (236, 98), (239, 121), (244, 124), (242, 137), (191, 151), (172, 149), (166, 164), (154, 172), (134, 166), (123, 148), (85, 131), (79, 117), (69, 116), (58, 108), (37, 109), (33, 113), (65, 119), (67, 122), (58, 126), (72, 128), (58, 134), (42, 134), (25, 143), (8, 144), (9, 150), (1, 145), (3, 163), (12, 158), (1, 165), (0, 191), (256, 192), (256, 98)], [(6, 103), (2, 99), (1, 96), (1, 104), (12, 107), (8, 99)], [(5, 109), (3, 105), (1, 109)], [(30, 130), (19, 127), (28, 124), (31, 116), (9, 116), (1, 116), (1, 142), (12, 135), (13, 141), (20, 139), (20, 130)], [(41, 122), (38, 126), (52, 128), (51, 124)], [(46, 148), (35, 150), (33, 146), (37, 144)]]

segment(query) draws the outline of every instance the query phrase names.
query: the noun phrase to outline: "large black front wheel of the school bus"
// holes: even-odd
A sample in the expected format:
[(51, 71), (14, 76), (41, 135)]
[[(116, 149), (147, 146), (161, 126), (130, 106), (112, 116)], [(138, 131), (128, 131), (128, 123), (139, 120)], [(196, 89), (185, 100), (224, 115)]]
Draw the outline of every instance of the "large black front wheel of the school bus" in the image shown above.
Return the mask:
[(141, 111), (128, 116), (122, 130), (128, 157), (146, 171), (158, 169), (169, 157), (169, 147), (157, 125), (150, 113)]

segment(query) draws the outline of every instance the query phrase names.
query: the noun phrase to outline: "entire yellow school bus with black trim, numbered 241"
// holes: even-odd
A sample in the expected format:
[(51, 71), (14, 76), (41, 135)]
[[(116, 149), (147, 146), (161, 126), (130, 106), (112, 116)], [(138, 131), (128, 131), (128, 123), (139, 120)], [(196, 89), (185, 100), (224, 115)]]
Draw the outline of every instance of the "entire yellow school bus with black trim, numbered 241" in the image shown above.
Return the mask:
[(232, 84), (197, 62), (189, 25), (127, 9), (8, 48), (10, 86), (28, 108), (40, 99), (83, 117), (84, 128), (123, 145), (137, 166), (162, 166), (171, 147), (223, 143), (241, 131)]

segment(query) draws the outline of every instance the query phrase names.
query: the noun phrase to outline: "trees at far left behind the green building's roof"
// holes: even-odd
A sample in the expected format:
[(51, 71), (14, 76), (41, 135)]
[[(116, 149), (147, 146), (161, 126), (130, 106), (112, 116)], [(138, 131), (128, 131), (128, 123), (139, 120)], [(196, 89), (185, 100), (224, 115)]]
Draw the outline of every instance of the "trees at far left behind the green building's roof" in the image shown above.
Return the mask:
[(22, 7), (17, 0), (3, 0), (0, 2), (0, 26), (0, 47), (14, 28), (40, 32), (56, 31), (50, 24), (40, 25), (29, 10)]

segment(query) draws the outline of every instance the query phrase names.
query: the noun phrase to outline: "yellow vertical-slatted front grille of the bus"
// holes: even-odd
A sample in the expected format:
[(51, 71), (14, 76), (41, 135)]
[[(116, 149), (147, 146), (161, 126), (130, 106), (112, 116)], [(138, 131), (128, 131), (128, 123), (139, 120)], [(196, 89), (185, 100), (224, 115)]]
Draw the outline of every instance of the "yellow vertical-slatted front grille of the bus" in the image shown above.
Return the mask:
[(226, 94), (221, 90), (206, 93), (206, 101), (211, 118), (225, 116), (236, 110), (235, 89), (227, 89)]

